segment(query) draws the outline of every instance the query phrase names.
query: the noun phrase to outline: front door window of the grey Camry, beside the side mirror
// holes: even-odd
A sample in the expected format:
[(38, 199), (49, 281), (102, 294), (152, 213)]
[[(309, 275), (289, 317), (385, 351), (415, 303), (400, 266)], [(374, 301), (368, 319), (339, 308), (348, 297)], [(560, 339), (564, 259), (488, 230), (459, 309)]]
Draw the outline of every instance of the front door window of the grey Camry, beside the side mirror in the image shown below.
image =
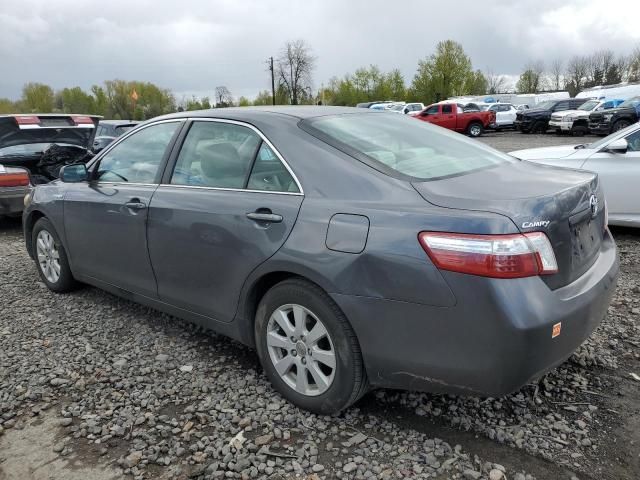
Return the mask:
[(155, 183), (165, 151), (181, 122), (150, 125), (125, 138), (100, 159), (100, 182)]

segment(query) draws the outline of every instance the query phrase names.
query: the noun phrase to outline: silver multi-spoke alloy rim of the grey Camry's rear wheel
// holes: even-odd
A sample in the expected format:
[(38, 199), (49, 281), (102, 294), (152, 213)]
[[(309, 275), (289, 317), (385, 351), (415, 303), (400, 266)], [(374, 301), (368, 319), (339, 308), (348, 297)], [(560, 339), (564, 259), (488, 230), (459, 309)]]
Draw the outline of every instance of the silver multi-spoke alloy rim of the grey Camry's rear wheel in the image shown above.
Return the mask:
[(301, 395), (317, 396), (331, 386), (336, 354), (322, 321), (297, 304), (278, 307), (267, 324), (269, 358), (280, 378)]

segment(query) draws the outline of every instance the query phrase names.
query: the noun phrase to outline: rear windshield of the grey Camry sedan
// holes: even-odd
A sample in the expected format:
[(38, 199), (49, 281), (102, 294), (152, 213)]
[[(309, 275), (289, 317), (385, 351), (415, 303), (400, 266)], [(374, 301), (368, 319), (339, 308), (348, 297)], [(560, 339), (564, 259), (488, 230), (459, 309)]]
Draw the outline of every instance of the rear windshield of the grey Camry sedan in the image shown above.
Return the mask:
[(301, 128), (392, 176), (436, 180), (516, 161), (476, 140), (402, 115), (345, 114)]

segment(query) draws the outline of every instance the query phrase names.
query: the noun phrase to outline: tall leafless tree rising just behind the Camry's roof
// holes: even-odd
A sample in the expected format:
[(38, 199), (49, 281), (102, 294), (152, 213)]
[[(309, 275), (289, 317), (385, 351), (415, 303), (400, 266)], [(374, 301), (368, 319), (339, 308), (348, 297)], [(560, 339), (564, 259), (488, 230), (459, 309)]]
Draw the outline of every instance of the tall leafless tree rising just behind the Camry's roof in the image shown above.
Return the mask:
[(311, 95), (311, 74), (315, 57), (304, 40), (287, 42), (277, 60), (278, 82), (286, 90), (292, 105)]

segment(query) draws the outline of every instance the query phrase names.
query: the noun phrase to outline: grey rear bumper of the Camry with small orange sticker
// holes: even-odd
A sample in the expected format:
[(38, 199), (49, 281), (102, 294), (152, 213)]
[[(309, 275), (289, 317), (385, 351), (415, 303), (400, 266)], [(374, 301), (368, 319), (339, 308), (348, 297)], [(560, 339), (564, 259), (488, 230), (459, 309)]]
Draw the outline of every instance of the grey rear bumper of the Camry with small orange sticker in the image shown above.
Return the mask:
[[(550, 290), (539, 277), (443, 272), (453, 307), (332, 295), (360, 341), (374, 386), (502, 396), (566, 360), (599, 325), (618, 275), (607, 232), (578, 280)], [(560, 335), (552, 338), (554, 325)]]

